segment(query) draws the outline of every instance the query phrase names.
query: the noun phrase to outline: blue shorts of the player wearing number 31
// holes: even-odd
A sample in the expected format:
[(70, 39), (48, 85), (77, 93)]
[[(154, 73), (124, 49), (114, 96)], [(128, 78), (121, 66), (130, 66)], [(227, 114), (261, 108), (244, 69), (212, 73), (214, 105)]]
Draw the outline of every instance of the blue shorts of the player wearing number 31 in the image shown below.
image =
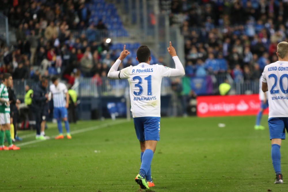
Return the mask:
[(135, 117), (133, 119), (139, 141), (160, 140), (160, 117)]

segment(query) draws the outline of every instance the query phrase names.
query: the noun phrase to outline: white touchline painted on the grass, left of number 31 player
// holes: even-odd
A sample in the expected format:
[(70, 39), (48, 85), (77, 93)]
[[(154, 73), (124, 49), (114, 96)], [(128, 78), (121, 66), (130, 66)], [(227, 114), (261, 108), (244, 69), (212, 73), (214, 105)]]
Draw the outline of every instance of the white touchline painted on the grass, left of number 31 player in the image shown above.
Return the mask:
[[(97, 125), (97, 126), (93, 126), (93, 127), (88, 127), (88, 128), (85, 128), (85, 129), (75, 130), (75, 131), (71, 131), (71, 135), (75, 135), (75, 134), (83, 133), (83, 132), (87, 132), (87, 131), (92, 131), (92, 130), (96, 130), (96, 129), (101, 129), (101, 128), (105, 128), (105, 127), (112, 126), (112, 125), (118, 125), (118, 124), (125, 123), (125, 122), (127, 122), (127, 120), (119, 120), (119, 121), (115, 121), (115, 122), (111, 122), (111, 123), (105, 123), (105, 124), (102, 124), (102, 125)], [(34, 134), (34, 135), (35, 135), (35, 134)], [(54, 137), (56, 137), (56, 136), (57, 136), (57, 135), (51, 136), (50, 139), (54, 139)], [(49, 139), (46, 139), (46, 140), (49, 140)], [(24, 146), (24, 145), (29, 145), (29, 144), (33, 144), (33, 143), (38, 143), (38, 142), (46, 141), (46, 140), (33, 140), (33, 141), (28, 141), (28, 142), (20, 143), (20, 144), (18, 144), (17, 146), (21, 147), (21, 146)]]

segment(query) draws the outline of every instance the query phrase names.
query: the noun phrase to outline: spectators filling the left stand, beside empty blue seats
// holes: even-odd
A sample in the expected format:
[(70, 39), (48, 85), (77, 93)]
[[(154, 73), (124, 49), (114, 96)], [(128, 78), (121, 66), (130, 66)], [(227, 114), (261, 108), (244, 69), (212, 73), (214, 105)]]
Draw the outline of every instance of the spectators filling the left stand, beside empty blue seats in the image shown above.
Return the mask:
[(88, 2), (1, 1), (0, 11), (16, 30), (17, 43), (11, 49), (1, 45), (0, 73), (36, 81), (59, 75), (72, 85), (81, 76), (106, 76), (117, 57), (107, 52), (111, 43), (97, 35), (107, 30), (102, 20), (89, 21)]

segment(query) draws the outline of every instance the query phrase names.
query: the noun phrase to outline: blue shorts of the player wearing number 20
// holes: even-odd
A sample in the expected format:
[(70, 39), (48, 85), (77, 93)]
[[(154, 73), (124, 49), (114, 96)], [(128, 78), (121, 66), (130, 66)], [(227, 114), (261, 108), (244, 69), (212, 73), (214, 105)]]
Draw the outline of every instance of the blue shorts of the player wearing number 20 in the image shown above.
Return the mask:
[(288, 117), (271, 117), (268, 119), (268, 126), (270, 140), (285, 139), (285, 128), (288, 129)]

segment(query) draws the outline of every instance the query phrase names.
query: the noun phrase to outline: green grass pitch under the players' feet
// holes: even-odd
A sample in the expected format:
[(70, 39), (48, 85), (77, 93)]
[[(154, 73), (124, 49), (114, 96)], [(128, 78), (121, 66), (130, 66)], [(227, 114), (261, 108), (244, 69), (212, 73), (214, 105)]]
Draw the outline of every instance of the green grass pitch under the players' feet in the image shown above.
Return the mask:
[[(287, 191), (287, 184), (273, 184), (267, 116), (265, 130), (254, 130), (254, 123), (254, 116), (162, 118), (151, 191)], [(56, 124), (48, 126), (46, 134), (56, 135)], [(141, 191), (134, 181), (140, 147), (133, 121), (79, 121), (71, 131), (72, 140), (41, 142), (20, 131), (21, 150), (0, 151), (0, 191)], [(284, 141), (284, 182), (286, 151)]]

